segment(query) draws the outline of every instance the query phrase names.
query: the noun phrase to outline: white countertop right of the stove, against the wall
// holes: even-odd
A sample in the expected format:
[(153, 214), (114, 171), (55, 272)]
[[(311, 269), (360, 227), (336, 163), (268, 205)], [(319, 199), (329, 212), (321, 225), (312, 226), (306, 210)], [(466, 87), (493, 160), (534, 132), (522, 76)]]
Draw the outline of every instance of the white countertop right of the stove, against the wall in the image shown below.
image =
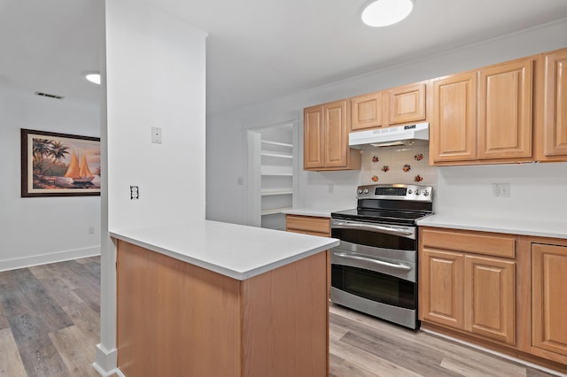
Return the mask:
[(417, 225), (567, 239), (567, 221), (536, 221), (435, 214), (417, 221)]

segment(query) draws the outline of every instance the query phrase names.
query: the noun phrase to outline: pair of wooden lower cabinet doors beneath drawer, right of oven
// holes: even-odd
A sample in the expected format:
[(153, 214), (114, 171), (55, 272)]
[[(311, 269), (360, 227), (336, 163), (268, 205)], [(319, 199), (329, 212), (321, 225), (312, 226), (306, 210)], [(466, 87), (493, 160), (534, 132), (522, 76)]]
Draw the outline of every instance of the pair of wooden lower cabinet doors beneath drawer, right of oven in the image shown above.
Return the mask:
[(516, 262), (430, 249), (420, 258), (421, 319), (515, 343)]

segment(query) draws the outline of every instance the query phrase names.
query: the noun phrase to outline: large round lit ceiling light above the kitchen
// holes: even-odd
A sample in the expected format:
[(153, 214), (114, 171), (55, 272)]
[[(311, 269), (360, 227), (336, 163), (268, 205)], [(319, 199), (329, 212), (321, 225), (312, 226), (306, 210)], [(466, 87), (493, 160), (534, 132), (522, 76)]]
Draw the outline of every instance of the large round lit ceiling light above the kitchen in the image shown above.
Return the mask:
[(414, 4), (411, 0), (376, 0), (362, 11), (362, 22), (370, 27), (387, 27), (408, 17)]

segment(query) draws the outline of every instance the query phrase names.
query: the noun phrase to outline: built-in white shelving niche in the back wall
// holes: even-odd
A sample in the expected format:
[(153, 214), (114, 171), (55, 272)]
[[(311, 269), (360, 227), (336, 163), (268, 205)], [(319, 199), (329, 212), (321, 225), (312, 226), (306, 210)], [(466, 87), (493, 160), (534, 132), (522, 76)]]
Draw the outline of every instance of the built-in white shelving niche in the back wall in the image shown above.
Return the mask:
[(248, 130), (248, 225), (285, 229), (282, 211), (296, 200), (296, 141), (297, 122)]

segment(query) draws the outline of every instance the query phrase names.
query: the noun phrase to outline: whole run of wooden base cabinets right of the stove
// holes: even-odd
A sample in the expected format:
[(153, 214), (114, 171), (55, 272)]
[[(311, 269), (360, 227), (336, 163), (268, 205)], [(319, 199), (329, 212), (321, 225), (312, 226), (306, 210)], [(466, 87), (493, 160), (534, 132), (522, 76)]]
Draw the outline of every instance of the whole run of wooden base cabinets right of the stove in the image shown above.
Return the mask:
[(567, 240), (422, 227), (422, 327), (567, 372)]

